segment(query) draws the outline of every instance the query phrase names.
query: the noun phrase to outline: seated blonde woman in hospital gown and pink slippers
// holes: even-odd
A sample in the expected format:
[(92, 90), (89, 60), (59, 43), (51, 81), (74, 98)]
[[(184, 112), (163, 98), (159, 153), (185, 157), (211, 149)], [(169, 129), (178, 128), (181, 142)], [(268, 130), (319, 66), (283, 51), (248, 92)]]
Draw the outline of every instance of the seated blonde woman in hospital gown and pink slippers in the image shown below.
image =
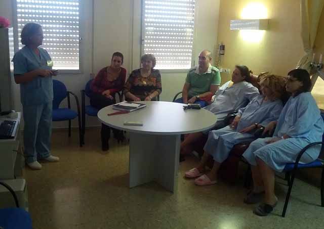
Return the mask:
[[(263, 75), (260, 78), (260, 86), (262, 95), (255, 97), (245, 108), (241, 108), (231, 125), (210, 131), (203, 158), (197, 167), (185, 173), (185, 177), (198, 177), (195, 179), (198, 186), (215, 184), (218, 169), (232, 147), (242, 141), (254, 140), (254, 132), (258, 126), (268, 126), (271, 121), (278, 119), (282, 110), (280, 98), (285, 91), (284, 77)], [(215, 160), (213, 169), (209, 174), (203, 174), (210, 155)]]

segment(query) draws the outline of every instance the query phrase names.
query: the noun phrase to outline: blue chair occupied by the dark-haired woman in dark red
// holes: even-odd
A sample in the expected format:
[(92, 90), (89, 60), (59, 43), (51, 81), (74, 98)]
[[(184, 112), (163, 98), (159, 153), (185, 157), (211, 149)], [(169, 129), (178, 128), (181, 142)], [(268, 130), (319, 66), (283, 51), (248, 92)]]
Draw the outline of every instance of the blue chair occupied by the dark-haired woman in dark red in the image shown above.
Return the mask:
[[(91, 105), (86, 105), (86, 96), (91, 97), (91, 82), (93, 79), (89, 80), (86, 84), (85, 89), (81, 90), (81, 116), (82, 116), (82, 144), (85, 144), (85, 133), (86, 133), (86, 114), (89, 116), (97, 116), (98, 109)], [(117, 92), (115, 97), (118, 95), (119, 101), (123, 101), (123, 93)], [(116, 99), (116, 98), (115, 98)]]

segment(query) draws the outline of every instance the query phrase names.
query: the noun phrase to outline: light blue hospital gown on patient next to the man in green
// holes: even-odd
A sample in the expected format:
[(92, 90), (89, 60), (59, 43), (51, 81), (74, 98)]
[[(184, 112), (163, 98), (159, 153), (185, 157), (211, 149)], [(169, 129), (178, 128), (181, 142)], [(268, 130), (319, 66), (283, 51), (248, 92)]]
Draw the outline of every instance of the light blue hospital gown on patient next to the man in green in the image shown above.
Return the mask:
[[(215, 101), (204, 108), (216, 115), (216, 126), (222, 125), (227, 114), (247, 106), (253, 98), (259, 95), (258, 88), (247, 81), (234, 83), (228, 87), (230, 82), (220, 86), (215, 94)], [(209, 130), (204, 131), (206, 134), (208, 132)]]

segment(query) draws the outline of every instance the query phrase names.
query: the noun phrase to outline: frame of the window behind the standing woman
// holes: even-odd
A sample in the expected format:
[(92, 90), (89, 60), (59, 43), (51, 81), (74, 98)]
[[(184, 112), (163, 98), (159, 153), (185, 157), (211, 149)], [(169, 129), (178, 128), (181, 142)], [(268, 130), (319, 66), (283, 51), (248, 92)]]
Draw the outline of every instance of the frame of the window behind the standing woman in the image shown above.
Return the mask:
[[(83, 0), (78, 0), (79, 10), (78, 10), (78, 27), (79, 27), (79, 69), (60, 69), (60, 74), (83, 74), (83, 55), (84, 55), (84, 45), (83, 45), (83, 37), (85, 35), (85, 27), (82, 23), (84, 21), (84, 17), (82, 12), (84, 12), (84, 4)], [(14, 30), (14, 51), (15, 53), (19, 51), (19, 42), (20, 42), (20, 34), (18, 32), (18, 15), (17, 15), (17, 0), (12, 1), (12, 15), (13, 15), (13, 30)]]

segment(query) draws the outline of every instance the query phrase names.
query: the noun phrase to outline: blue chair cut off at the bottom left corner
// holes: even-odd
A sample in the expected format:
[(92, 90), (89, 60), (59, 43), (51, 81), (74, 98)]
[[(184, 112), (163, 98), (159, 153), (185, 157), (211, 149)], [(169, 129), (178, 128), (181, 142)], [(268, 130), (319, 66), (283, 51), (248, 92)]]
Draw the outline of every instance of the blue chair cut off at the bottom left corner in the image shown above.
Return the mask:
[(17, 207), (0, 209), (0, 228), (32, 229), (30, 215), (24, 209), (19, 208), (19, 203), (15, 192), (9, 185), (2, 181), (0, 181), (0, 185), (9, 190), (15, 200)]

